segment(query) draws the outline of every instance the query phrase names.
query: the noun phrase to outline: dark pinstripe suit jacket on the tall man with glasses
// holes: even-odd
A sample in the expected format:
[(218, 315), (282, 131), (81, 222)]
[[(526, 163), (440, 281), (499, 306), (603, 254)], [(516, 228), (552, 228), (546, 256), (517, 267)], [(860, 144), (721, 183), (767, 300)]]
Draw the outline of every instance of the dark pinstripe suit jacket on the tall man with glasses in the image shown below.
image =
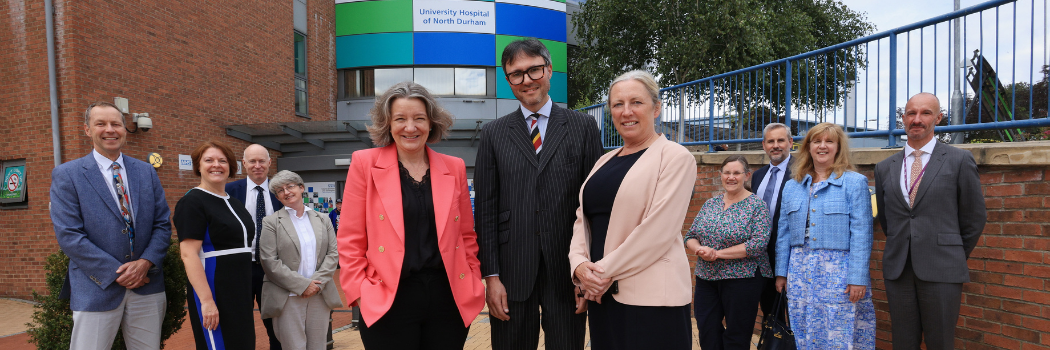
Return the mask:
[(556, 104), (539, 155), (528, 130), (520, 108), (486, 124), (475, 162), (482, 276), (499, 274), (516, 302), (531, 294), (541, 258), (547, 273), (565, 276), (552, 288), (571, 292), (566, 271), (580, 186), (603, 152), (594, 119)]

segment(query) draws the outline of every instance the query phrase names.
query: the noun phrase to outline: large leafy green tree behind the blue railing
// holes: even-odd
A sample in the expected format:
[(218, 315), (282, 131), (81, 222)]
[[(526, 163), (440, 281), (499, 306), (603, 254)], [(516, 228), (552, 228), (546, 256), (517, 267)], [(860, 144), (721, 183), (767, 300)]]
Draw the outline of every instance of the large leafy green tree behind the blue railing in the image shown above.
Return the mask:
[[(609, 81), (626, 70), (647, 69), (670, 86), (838, 44), (875, 29), (862, 14), (835, 0), (591, 0), (581, 5), (572, 24), (581, 43), (569, 59), (572, 105), (601, 101)], [(841, 78), (863, 53), (838, 55), (841, 58), (828, 54), (793, 67), (821, 69), (828, 76), (826, 69), (842, 69)], [(783, 84), (779, 74), (771, 71), (748, 83), (772, 90)], [(848, 85), (845, 79), (833, 84), (837, 90)], [(738, 110), (761, 103), (784, 108), (783, 100), (775, 97), (750, 101), (740, 90), (716, 89), (719, 99), (734, 101)], [(838, 100), (799, 101), (826, 106)]]

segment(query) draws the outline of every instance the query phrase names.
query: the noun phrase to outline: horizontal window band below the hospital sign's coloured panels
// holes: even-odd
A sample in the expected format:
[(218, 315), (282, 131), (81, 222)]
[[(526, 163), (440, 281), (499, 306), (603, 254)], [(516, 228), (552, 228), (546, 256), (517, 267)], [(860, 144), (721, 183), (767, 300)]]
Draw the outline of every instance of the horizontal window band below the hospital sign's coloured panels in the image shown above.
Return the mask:
[(414, 81), (435, 96), (495, 97), (495, 67), (394, 67), (340, 69), (339, 99), (382, 95), (394, 84)]

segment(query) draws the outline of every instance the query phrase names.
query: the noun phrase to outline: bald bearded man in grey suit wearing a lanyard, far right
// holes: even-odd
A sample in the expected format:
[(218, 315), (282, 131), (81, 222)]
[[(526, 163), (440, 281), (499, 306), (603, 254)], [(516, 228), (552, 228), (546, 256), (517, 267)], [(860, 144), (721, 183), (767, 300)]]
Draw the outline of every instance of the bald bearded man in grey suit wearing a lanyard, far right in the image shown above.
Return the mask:
[(987, 220), (973, 155), (933, 138), (942, 118), (936, 96), (911, 97), (904, 151), (875, 166), (894, 349), (953, 348), (966, 260)]

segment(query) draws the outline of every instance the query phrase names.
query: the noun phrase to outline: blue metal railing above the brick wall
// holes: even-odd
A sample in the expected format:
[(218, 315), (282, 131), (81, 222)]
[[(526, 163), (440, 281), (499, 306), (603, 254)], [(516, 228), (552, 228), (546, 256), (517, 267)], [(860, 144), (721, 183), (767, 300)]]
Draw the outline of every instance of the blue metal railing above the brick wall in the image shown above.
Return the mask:
[[(1024, 16), (1018, 22), (1018, 13), (1030, 15), (1027, 23)], [(1050, 92), (1044, 92), (1050, 89), (1043, 69), (1048, 59), (1046, 14), (1047, 0), (988, 1), (810, 53), (668, 86), (660, 89), (664, 109), (657, 131), (684, 145), (712, 146), (761, 142), (762, 127), (773, 122), (790, 123), (795, 135), (803, 135), (819, 122), (833, 122), (846, 129), (855, 146), (896, 147), (905, 133), (898, 125), (905, 102), (926, 91), (938, 96), (945, 109), (947, 125), (934, 129), (951, 133), (943, 137), (945, 141), (959, 143), (964, 132), (981, 130), (998, 130), (1006, 141), (1026, 140), (1031, 135), (1023, 128), (1050, 126)], [(1043, 33), (1036, 32), (1038, 26)], [(1024, 29), (1028, 29), (1027, 46)], [(994, 37), (986, 38), (989, 33)], [(951, 55), (957, 48), (960, 53)], [(1043, 52), (1043, 62), (1034, 61), (1036, 49)], [(1037, 89), (1043, 89), (1038, 97)], [(1024, 92), (1021, 101), (1018, 91)], [(581, 110), (598, 121), (606, 148), (623, 145), (605, 104)]]

